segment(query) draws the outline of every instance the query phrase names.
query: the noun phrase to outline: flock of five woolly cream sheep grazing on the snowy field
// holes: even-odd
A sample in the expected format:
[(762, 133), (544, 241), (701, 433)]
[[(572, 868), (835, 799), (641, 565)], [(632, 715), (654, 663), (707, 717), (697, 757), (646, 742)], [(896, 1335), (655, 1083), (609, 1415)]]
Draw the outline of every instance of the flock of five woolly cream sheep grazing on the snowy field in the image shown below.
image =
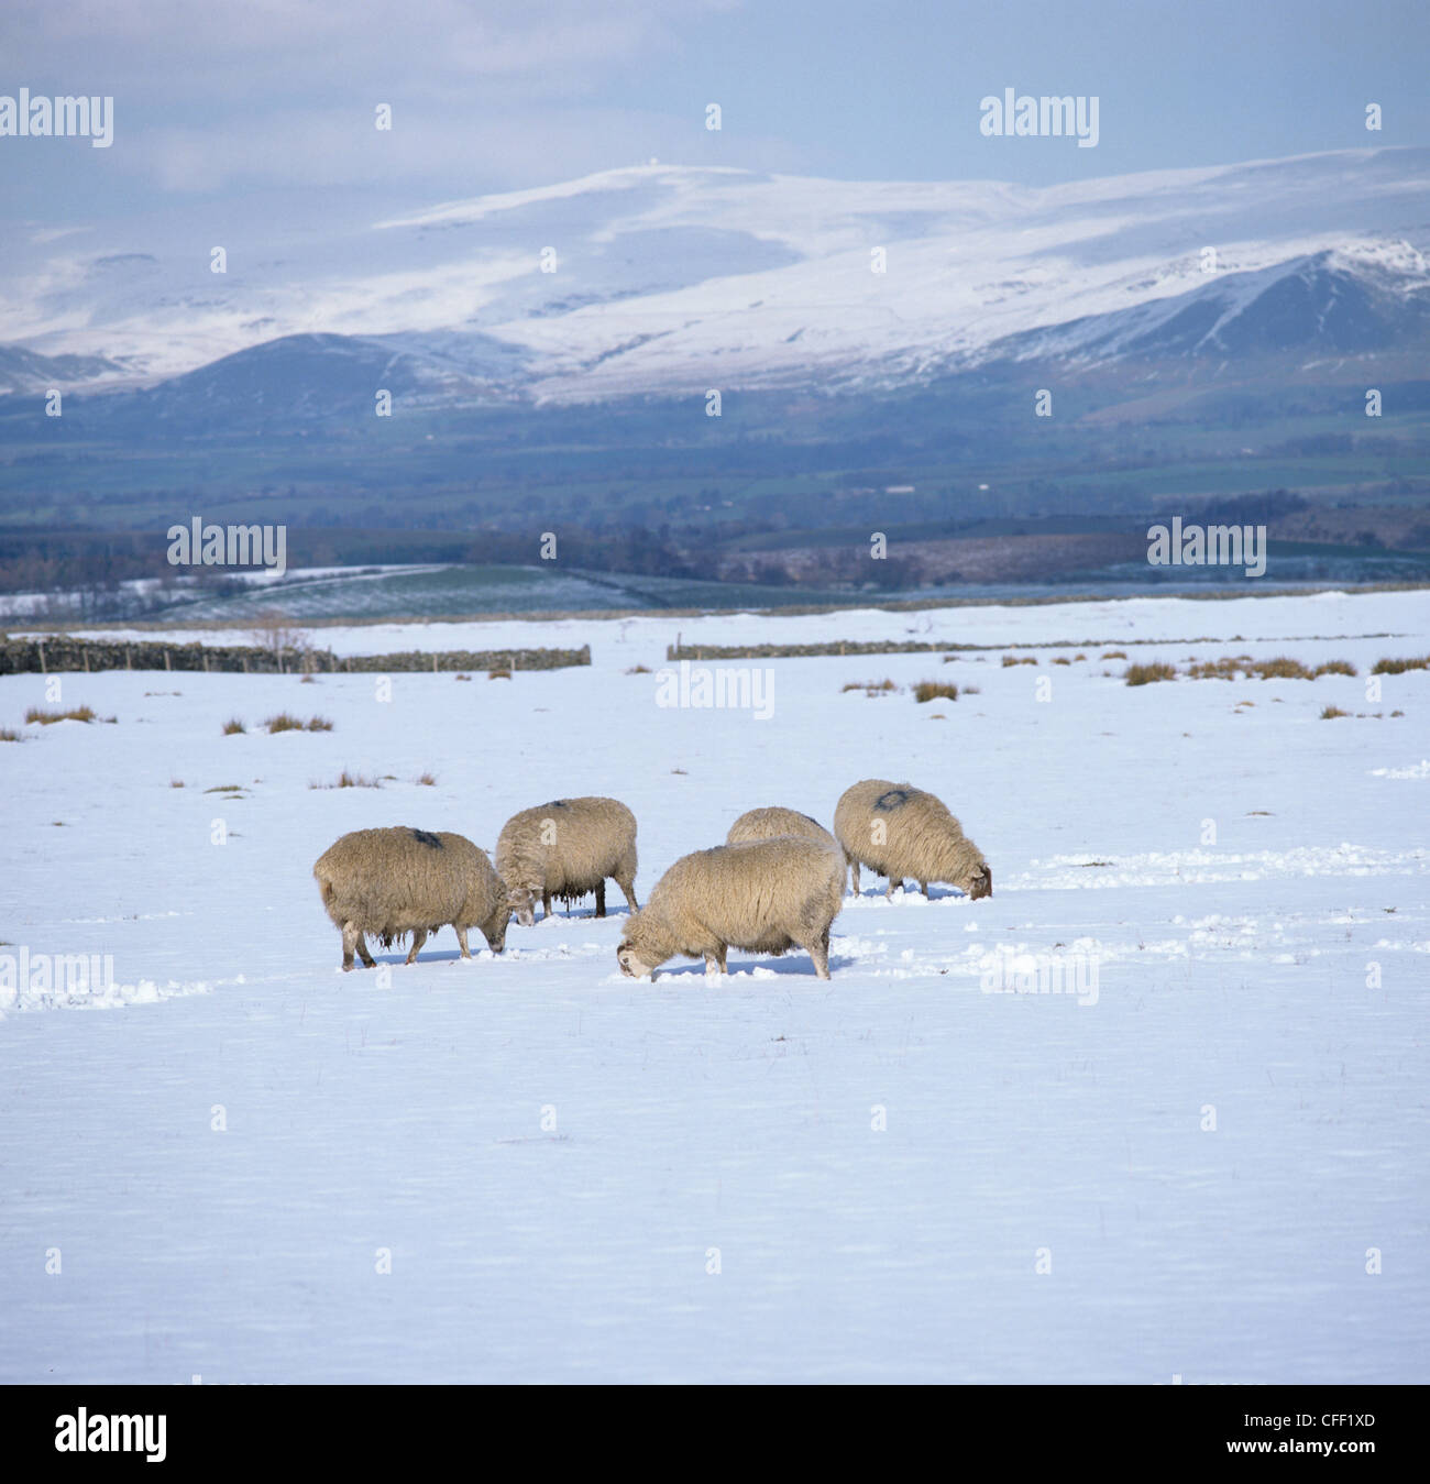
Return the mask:
[(730, 827), (724, 844), (681, 856), (656, 883), (645, 907), (635, 899), (635, 815), (616, 798), (559, 798), (513, 815), (487, 852), (458, 834), (398, 827), (355, 830), (313, 867), (323, 907), (343, 933), (343, 968), (353, 954), (374, 966), (365, 938), (389, 948), (412, 935), (412, 963), (427, 935), (447, 923), (470, 959), (467, 930), (478, 928), (492, 953), (506, 947), (512, 917), (536, 923), (552, 899), (571, 904), (595, 892), (605, 916), (605, 883), (630, 904), (616, 959), (622, 974), (654, 978), (676, 956), (725, 971), (725, 953), (804, 948), (814, 972), (829, 978), (829, 928), (844, 902), (846, 870), (905, 879), (929, 895), (946, 881), (970, 898), (992, 895), (992, 871), (963, 827), (933, 794), (909, 784), (868, 778), (846, 789), (834, 810), (834, 834), (794, 809), (752, 809)]

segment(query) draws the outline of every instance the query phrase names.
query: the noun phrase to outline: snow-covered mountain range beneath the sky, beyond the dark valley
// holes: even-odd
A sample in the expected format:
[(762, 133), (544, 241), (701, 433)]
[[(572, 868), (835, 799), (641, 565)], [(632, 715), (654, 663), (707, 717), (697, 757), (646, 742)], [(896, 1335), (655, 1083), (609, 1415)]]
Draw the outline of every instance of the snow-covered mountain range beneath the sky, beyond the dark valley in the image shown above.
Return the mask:
[(236, 243), (224, 273), (199, 230), (88, 257), (37, 234), (0, 282), (0, 390), (182, 377), (175, 407), (317, 413), (1423, 346), (1430, 150), (1038, 190), (650, 165)]

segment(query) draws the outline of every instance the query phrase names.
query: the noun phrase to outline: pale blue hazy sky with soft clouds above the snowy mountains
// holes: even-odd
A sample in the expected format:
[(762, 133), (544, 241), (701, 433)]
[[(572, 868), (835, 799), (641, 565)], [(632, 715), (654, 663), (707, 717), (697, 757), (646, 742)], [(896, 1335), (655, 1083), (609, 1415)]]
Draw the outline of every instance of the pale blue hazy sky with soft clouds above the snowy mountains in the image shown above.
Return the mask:
[[(113, 93), (116, 142), (0, 138), (0, 220), (206, 199), (297, 221), (653, 156), (1044, 186), (1426, 144), (1427, 13), (1424, 0), (6, 0), (0, 93)], [(983, 138), (979, 99), (1006, 86), (1096, 95), (1099, 145)], [(389, 137), (377, 102), (395, 108)], [(1380, 134), (1366, 102), (1384, 108)]]

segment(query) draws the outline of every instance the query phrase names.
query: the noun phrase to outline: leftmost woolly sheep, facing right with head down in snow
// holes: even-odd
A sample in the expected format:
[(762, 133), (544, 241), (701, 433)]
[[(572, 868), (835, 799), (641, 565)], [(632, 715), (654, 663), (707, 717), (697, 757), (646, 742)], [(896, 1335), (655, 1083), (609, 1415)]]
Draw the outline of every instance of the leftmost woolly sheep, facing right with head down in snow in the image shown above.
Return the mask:
[(384, 948), (412, 933), (412, 963), (427, 933), (444, 923), (457, 929), (463, 959), (470, 959), (467, 929), (481, 928), (492, 953), (506, 947), (512, 916), (501, 877), (487, 852), (463, 835), (427, 830), (355, 830), (317, 858), (313, 867), (328, 916), (343, 933), (343, 968), (353, 950), (374, 966), (363, 941), (372, 933)]

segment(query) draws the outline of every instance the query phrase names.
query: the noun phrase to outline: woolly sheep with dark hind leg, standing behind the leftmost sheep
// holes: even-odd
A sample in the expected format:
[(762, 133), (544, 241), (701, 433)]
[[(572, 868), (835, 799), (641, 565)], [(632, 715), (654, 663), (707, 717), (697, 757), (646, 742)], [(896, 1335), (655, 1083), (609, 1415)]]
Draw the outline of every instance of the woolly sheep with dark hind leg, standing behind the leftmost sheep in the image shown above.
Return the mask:
[(596, 893), (605, 916), (605, 879), (635, 899), (635, 815), (616, 798), (556, 798), (512, 815), (497, 840), (497, 871), (522, 928), (536, 922), (536, 898), (546, 917), (552, 898), (570, 905)]

